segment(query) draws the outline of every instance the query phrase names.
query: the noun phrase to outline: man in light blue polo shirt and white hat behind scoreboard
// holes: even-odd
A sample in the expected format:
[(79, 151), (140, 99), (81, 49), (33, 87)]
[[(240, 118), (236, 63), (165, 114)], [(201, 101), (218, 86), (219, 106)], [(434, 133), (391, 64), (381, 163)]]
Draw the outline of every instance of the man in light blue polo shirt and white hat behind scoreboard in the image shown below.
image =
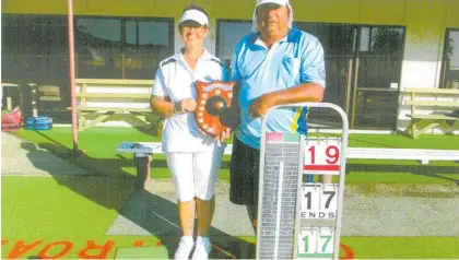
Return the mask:
[[(321, 102), (325, 91), (323, 49), (319, 40), (292, 26), (289, 0), (258, 0), (252, 33), (237, 45), (232, 80), (240, 83), (240, 123), (231, 159), (229, 200), (245, 204), (257, 226), (261, 117), (276, 105)], [(307, 133), (307, 107), (275, 109), (269, 131)]]

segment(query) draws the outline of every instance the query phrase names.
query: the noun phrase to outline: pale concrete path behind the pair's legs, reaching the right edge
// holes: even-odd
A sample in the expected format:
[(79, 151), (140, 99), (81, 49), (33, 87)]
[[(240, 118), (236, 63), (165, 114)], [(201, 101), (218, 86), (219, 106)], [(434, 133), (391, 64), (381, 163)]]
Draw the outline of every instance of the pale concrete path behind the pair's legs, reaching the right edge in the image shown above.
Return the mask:
[[(133, 194), (107, 235), (166, 235), (177, 233), (176, 202), (170, 180), (154, 179)], [(229, 202), (228, 184), (219, 181), (213, 233), (255, 236), (245, 206)], [(459, 188), (431, 186), (425, 196), (445, 192), (449, 198), (363, 194), (348, 187), (344, 196), (343, 236), (459, 236)], [(427, 193), (428, 192), (428, 193)]]

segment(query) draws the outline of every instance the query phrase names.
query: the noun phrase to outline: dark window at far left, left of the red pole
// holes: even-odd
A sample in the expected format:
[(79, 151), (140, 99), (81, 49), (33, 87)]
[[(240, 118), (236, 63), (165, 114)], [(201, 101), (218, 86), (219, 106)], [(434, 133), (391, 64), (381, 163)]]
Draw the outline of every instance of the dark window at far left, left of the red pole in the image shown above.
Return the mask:
[(68, 68), (67, 16), (2, 14), (2, 81), (57, 80)]

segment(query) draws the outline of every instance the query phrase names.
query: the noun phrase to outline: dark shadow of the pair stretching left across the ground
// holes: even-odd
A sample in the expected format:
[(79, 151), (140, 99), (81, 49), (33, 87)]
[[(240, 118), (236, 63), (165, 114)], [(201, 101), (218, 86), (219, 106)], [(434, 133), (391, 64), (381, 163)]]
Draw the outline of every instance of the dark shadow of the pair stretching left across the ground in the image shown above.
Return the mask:
[[(56, 172), (47, 164), (46, 156), (49, 154), (46, 151), (25, 143), (23, 149), (28, 152), (27, 157), (35, 167), (48, 172), (60, 186), (67, 187), (101, 206), (115, 210), (119, 214), (117, 220), (121, 221), (122, 225), (133, 223), (148, 234), (157, 237), (167, 249), (168, 258), (174, 257), (181, 236), (177, 204), (149, 190), (136, 189), (136, 176), (121, 169), (121, 167), (134, 166), (133, 159), (93, 158), (84, 153), (74, 155), (63, 144), (39, 132), (38, 134), (49, 141), (38, 144), (40, 147), (87, 169), (90, 176), (63, 177), (62, 173)], [(126, 235), (122, 228), (116, 228), (109, 227), (107, 235)], [(210, 256), (212, 259), (255, 257), (255, 245), (214, 227), (211, 227), (210, 234), (213, 237), (213, 250)]]

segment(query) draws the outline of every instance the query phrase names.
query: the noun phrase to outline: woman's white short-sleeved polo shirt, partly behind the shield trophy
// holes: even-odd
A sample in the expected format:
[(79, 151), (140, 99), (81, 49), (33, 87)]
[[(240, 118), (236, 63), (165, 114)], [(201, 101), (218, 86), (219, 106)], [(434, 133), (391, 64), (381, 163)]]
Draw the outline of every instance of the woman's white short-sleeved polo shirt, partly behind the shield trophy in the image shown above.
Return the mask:
[[(191, 70), (181, 52), (160, 63), (152, 87), (152, 95), (168, 96), (173, 103), (187, 97), (197, 101), (195, 82), (227, 81), (228, 72), (223, 62), (204, 49)], [(163, 152), (207, 152), (215, 145), (213, 137), (202, 135), (195, 113), (166, 118), (163, 127)]]

